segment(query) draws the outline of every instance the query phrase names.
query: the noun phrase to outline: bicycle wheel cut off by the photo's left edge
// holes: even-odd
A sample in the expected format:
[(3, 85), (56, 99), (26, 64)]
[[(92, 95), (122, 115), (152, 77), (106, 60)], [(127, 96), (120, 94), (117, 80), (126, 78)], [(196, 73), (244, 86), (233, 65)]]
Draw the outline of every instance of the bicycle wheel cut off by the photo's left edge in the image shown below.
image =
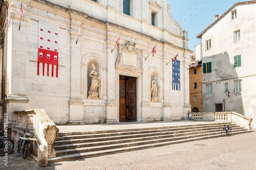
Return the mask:
[(9, 136), (0, 137), (0, 155), (6, 155), (13, 151), (14, 141)]

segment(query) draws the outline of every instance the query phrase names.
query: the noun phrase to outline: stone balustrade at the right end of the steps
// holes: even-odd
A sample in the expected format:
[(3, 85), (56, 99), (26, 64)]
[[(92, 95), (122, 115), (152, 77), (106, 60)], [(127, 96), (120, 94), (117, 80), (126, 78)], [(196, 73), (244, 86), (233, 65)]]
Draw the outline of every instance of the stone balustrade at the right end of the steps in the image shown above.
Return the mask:
[(251, 130), (252, 118), (246, 117), (236, 112), (199, 112), (188, 113), (191, 120), (201, 121), (218, 121), (218, 122), (232, 122), (240, 127)]

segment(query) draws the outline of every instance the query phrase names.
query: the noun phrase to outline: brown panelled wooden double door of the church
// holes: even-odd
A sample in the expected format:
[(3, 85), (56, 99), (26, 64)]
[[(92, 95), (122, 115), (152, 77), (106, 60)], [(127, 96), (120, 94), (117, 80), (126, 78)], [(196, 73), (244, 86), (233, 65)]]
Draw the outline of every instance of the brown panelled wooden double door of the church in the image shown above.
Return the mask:
[(119, 76), (119, 122), (137, 121), (136, 78)]

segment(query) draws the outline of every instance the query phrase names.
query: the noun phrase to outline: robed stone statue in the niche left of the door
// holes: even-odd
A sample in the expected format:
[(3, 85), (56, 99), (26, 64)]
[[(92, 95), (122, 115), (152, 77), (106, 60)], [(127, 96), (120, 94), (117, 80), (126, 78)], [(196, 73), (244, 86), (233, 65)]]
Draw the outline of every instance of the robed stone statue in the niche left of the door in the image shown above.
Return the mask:
[(88, 91), (89, 97), (92, 99), (99, 99), (98, 98), (98, 93), (97, 93), (97, 88), (101, 86), (100, 80), (99, 80), (99, 72), (97, 72), (95, 69), (95, 65), (92, 63), (92, 71), (90, 72), (90, 77), (92, 78), (91, 82), (91, 87)]

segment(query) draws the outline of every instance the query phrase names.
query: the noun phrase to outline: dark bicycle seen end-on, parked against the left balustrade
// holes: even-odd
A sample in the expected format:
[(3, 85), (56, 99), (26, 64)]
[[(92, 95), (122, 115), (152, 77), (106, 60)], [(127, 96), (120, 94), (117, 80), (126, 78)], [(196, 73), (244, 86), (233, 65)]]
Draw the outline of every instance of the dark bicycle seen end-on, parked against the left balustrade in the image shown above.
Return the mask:
[(23, 135), (19, 137), (20, 139), (18, 140), (18, 148), (17, 148), (18, 153), (20, 149), (23, 150), (22, 152), (23, 159), (26, 159), (28, 156), (31, 140), (36, 140), (34, 138), (28, 138), (28, 135), (25, 132), (26, 132), (26, 129), (24, 129)]

